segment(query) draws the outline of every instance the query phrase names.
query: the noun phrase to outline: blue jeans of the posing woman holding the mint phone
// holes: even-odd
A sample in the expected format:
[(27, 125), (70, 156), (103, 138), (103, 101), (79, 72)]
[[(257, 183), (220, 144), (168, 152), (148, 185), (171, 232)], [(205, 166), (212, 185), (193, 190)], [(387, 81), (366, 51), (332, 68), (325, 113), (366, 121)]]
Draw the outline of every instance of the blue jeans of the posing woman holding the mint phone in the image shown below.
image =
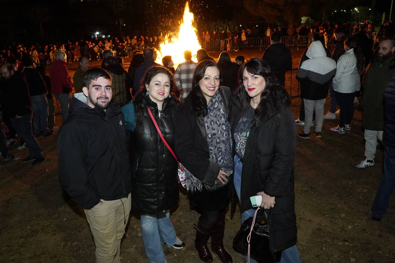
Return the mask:
[[(240, 158), (237, 155), (235, 155), (233, 160), (234, 160), (234, 163), (235, 163), (235, 173), (234, 173), (234, 177), (233, 177), (233, 183), (235, 184), (237, 197), (240, 200), (240, 194), (241, 194), (241, 171), (242, 171), (242, 168), (243, 168), (243, 164), (241, 163)], [(244, 221), (247, 220), (248, 218), (254, 216), (255, 211), (256, 211), (255, 209), (249, 209), (249, 210), (244, 211), (243, 213), (241, 213), (241, 224), (243, 224)], [(247, 261), (247, 256), (245, 256), (245, 261)], [(257, 263), (257, 261), (255, 261), (252, 258), (250, 258), (250, 262), (251, 263)], [(294, 246), (292, 246), (290, 248), (287, 248), (286, 250), (282, 251), (280, 263), (301, 263), (301, 262), (302, 261), (300, 259), (299, 251), (298, 251), (296, 245), (294, 245)]]

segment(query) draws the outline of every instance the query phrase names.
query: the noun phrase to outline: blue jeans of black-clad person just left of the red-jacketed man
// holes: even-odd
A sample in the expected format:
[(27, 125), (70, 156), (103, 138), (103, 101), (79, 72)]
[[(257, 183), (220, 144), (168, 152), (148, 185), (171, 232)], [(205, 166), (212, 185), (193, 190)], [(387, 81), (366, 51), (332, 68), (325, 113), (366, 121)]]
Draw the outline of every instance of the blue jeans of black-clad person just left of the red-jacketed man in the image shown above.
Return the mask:
[(48, 129), (48, 101), (45, 95), (31, 96), (32, 109), (33, 109), (33, 131), (34, 134), (47, 135)]

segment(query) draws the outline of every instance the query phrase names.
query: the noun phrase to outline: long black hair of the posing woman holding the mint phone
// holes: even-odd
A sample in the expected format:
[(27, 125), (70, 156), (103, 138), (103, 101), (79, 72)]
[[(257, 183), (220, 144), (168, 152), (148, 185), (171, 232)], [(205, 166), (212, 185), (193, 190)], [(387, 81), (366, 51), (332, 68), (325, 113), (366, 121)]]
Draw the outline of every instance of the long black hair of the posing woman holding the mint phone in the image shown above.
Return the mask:
[(269, 64), (259, 58), (252, 58), (249, 62), (243, 64), (239, 70), (239, 90), (237, 92), (237, 97), (239, 97), (241, 103), (241, 110), (247, 110), (251, 101), (251, 98), (248, 96), (243, 84), (244, 69), (246, 69), (251, 75), (262, 76), (266, 82), (266, 86), (261, 93), (261, 101), (255, 109), (255, 118), (251, 123), (251, 127), (256, 127), (259, 125), (260, 120), (267, 114), (269, 105), (278, 110), (277, 101), (279, 99), (279, 95), (285, 99), (287, 106), (291, 104), (291, 99), (288, 92), (278, 84), (278, 80), (271, 72)]

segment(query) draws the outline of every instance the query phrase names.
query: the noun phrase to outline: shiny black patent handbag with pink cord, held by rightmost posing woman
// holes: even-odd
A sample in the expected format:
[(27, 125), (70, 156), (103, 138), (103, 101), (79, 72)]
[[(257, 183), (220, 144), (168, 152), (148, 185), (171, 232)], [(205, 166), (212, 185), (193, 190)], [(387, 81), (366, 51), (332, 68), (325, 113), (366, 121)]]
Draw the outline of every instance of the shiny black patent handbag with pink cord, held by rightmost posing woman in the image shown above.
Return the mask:
[[(278, 263), (281, 259), (280, 252), (271, 252), (269, 248), (269, 231), (271, 223), (271, 209), (267, 211), (267, 222), (259, 222), (261, 216), (265, 216), (265, 209), (258, 207), (254, 217), (250, 217), (241, 226), (233, 239), (236, 250), (249, 254), (254, 259), (263, 263)], [(251, 231), (252, 226), (252, 231)], [(249, 251), (248, 251), (249, 250)]]

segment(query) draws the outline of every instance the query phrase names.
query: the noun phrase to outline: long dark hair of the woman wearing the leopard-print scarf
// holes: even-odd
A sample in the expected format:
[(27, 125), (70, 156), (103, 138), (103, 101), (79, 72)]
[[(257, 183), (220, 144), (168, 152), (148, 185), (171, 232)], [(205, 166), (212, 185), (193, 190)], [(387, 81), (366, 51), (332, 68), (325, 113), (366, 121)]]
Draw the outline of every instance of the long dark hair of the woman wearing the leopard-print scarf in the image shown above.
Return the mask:
[[(207, 115), (207, 101), (200, 89), (199, 81), (205, 76), (208, 67), (216, 67), (220, 72), (220, 83), (222, 83), (221, 70), (217, 63), (211, 60), (202, 60), (195, 68), (192, 78), (192, 90), (190, 92), (192, 99), (192, 109), (196, 112), (196, 116)], [(217, 91), (218, 92), (218, 91)]]

